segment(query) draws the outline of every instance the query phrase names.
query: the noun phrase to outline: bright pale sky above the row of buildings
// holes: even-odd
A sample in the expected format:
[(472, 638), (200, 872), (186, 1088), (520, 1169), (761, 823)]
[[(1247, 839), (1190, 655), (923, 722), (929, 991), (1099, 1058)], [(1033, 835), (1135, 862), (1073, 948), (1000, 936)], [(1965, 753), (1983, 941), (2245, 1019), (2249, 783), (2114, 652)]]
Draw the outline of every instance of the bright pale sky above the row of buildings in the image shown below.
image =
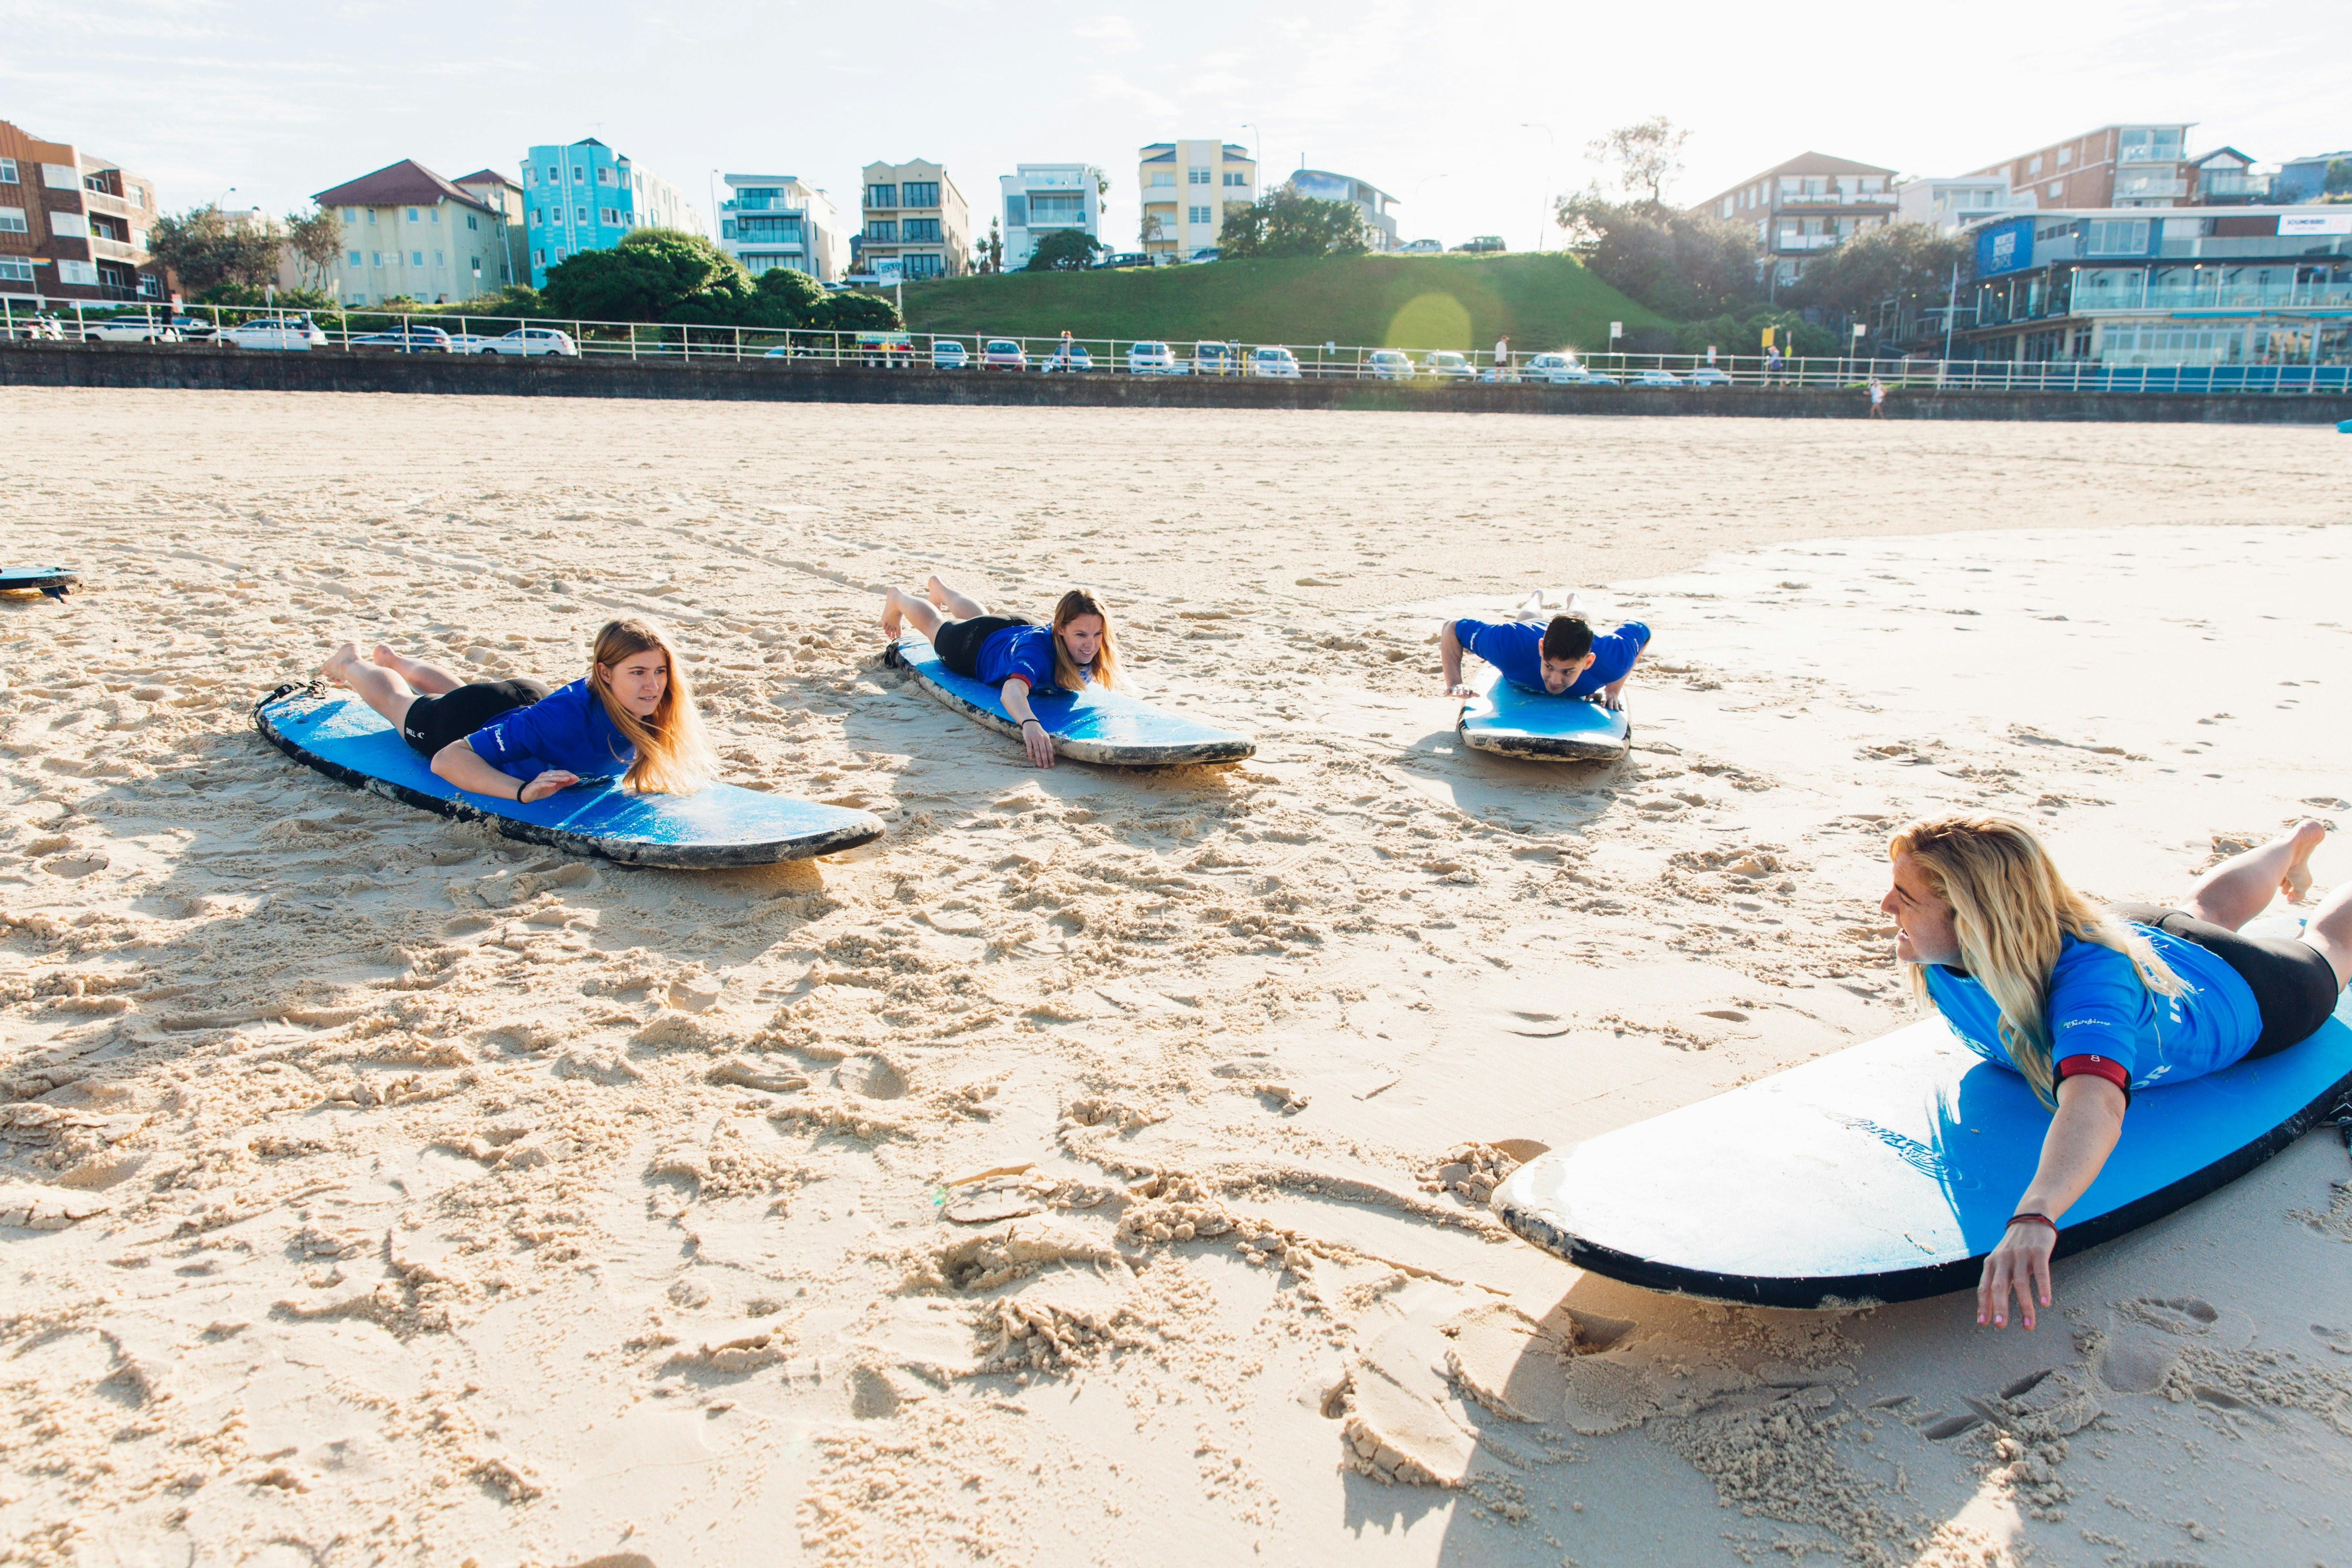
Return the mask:
[(402, 158), (515, 176), (597, 136), (706, 216), (713, 172), (797, 174), (844, 228), (863, 165), (929, 158), (976, 235), (1016, 162), (1094, 162), (1131, 249), (1136, 150), (1221, 136), (1268, 186), (1381, 186), (1406, 240), (1531, 249), (1588, 143), (1651, 115), (1689, 129), (1682, 202), (1806, 150), (1957, 174), (2107, 122), (2260, 162), (2352, 146), (2345, 0), (0, 0), (0, 118), (167, 209), (287, 214)]

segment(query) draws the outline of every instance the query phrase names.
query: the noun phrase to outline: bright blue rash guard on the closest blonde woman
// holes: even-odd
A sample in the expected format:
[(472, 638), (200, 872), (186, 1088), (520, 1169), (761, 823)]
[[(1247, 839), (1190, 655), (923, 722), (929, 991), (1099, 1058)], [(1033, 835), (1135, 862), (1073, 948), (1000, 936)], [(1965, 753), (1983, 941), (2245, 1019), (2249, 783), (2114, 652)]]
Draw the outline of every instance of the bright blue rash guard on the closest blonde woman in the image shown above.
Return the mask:
[[(2103, 1056), (2133, 1088), (2180, 1084), (2220, 1072), (2246, 1056), (2263, 1034), (2253, 987), (2197, 943), (2133, 926), (2150, 940), (2187, 992), (2161, 997), (2114, 947), (2067, 936), (2051, 969), (2051, 1063)], [(2002, 1009), (1978, 980), (1943, 964), (1926, 966), (1926, 994), (1962, 1044), (1987, 1063), (2016, 1072), (2002, 1044)]]

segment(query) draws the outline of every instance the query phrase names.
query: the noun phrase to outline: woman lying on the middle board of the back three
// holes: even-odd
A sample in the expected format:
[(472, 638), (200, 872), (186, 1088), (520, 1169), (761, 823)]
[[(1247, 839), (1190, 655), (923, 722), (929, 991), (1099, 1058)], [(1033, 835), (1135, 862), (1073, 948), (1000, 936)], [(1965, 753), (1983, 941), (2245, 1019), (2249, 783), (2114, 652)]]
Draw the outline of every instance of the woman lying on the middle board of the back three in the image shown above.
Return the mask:
[(913, 623), (938, 654), (938, 663), (957, 675), (1000, 686), (1004, 712), (1021, 726), (1028, 759), (1054, 766), (1054, 736), (1030, 712), (1030, 691), (1077, 691), (1080, 686), (1120, 684), (1120, 639), (1110, 616), (1084, 588), (1061, 595), (1054, 628), (1028, 616), (990, 616), (971, 595), (957, 592), (936, 576), (924, 597), (891, 588), (882, 597), (882, 630), (898, 639)]

